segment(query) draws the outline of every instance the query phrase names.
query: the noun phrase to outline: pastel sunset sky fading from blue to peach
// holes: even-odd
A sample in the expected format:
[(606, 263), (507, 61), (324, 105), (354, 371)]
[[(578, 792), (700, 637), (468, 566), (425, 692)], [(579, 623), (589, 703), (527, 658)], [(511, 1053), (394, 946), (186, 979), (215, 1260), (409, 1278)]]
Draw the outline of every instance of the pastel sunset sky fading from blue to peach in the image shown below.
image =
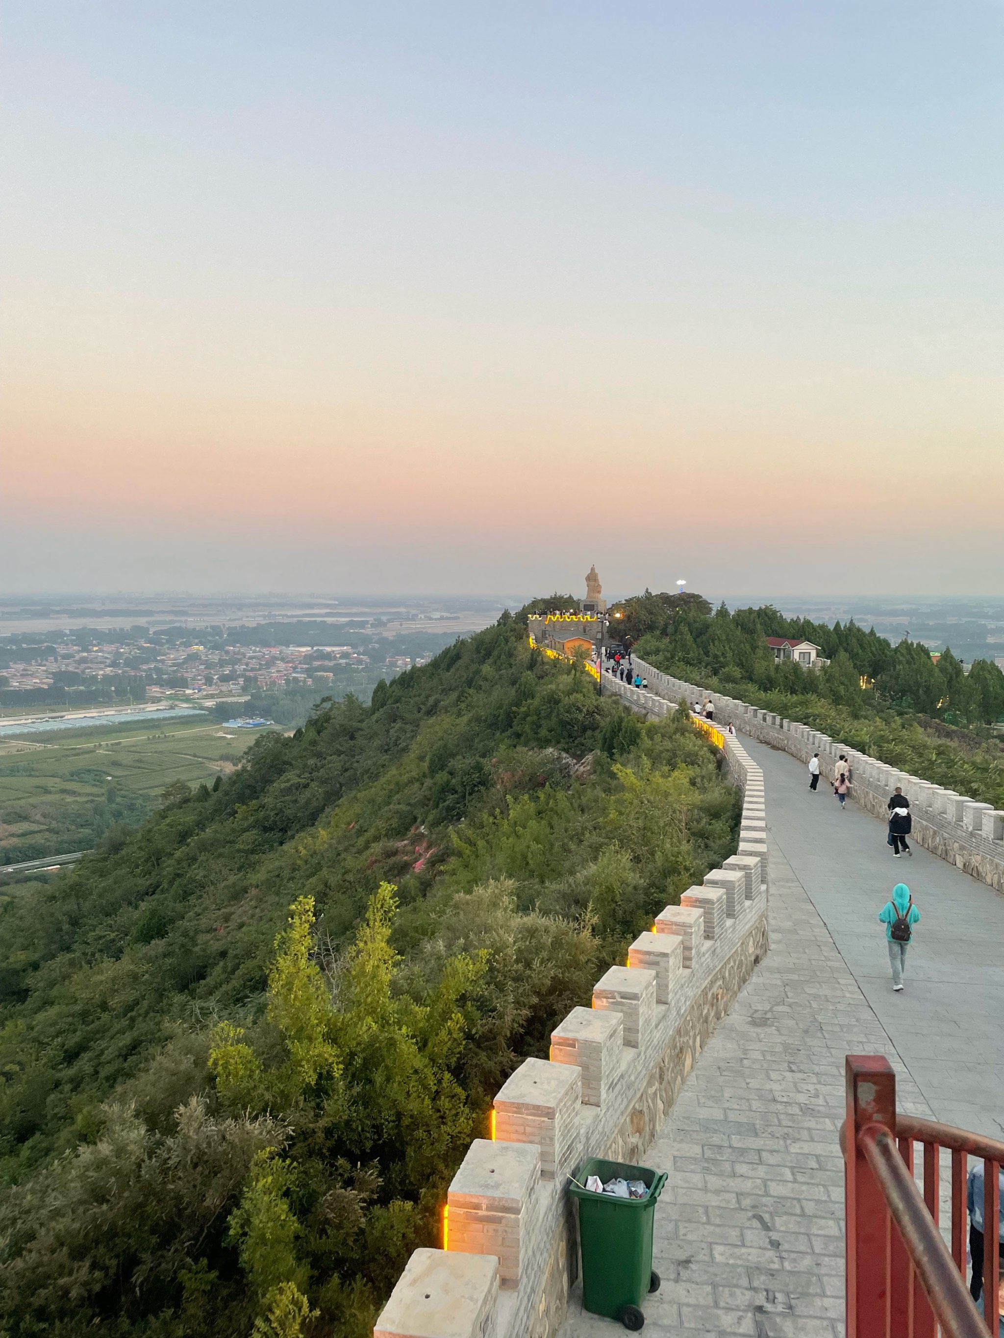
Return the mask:
[(0, 590), (1004, 593), (1004, 7), (0, 0)]

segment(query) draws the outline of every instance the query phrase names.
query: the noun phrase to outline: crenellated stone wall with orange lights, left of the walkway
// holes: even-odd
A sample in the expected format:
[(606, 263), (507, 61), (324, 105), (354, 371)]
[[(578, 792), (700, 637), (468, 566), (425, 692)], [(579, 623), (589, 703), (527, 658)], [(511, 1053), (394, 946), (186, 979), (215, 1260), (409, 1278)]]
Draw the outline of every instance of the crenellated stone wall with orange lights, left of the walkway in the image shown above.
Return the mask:
[[(653, 700), (651, 712), (632, 705), (672, 709)], [(494, 1140), (475, 1139), (450, 1185), (443, 1250), (415, 1251), (375, 1338), (557, 1333), (578, 1275), (569, 1176), (592, 1156), (644, 1159), (767, 951), (763, 773), (738, 739), (726, 740), (724, 757), (743, 789), (739, 852), (685, 904), (665, 907), (626, 966), (597, 981), (592, 1008), (573, 1009), (552, 1033), (550, 1060), (526, 1060), (505, 1082)]]

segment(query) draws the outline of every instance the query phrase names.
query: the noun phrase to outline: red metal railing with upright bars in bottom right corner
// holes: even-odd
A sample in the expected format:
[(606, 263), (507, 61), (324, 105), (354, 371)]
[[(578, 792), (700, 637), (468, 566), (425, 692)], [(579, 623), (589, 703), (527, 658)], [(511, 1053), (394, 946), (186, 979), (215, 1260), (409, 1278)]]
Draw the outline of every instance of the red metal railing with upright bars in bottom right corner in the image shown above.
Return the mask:
[[(1004, 1143), (896, 1113), (896, 1073), (881, 1054), (846, 1058), (841, 1128), (847, 1230), (847, 1338), (999, 1338), (999, 1183)], [(924, 1192), (914, 1179), (921, 1144)], [(952, 1153), (952, 1248), (938, 1227), (940, 1155)], [(983, 1295), (965, 1283), (967, 1159), (984, 1163)]]

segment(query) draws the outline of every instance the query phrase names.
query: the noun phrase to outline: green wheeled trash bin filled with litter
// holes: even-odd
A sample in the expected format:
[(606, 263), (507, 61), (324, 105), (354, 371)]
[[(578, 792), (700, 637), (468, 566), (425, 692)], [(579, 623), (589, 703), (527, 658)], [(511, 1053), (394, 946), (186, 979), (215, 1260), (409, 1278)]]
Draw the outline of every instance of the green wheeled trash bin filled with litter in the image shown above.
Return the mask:
[[(644, 1180), (644, 1199), (617, 1199), (585, 1188), (586, 1177)], [(578, 1200), (578, 1239), (582, 1247), (582, 1305), (594, 1315), (620, 1319), (625, 1329), (641, 1329), (641, 1302), (659, 1290), (652, 1271), (652, 1227), (665, 1171), (632, 1167), (624, 1161), (590, 1157), (569, 1188)]]

